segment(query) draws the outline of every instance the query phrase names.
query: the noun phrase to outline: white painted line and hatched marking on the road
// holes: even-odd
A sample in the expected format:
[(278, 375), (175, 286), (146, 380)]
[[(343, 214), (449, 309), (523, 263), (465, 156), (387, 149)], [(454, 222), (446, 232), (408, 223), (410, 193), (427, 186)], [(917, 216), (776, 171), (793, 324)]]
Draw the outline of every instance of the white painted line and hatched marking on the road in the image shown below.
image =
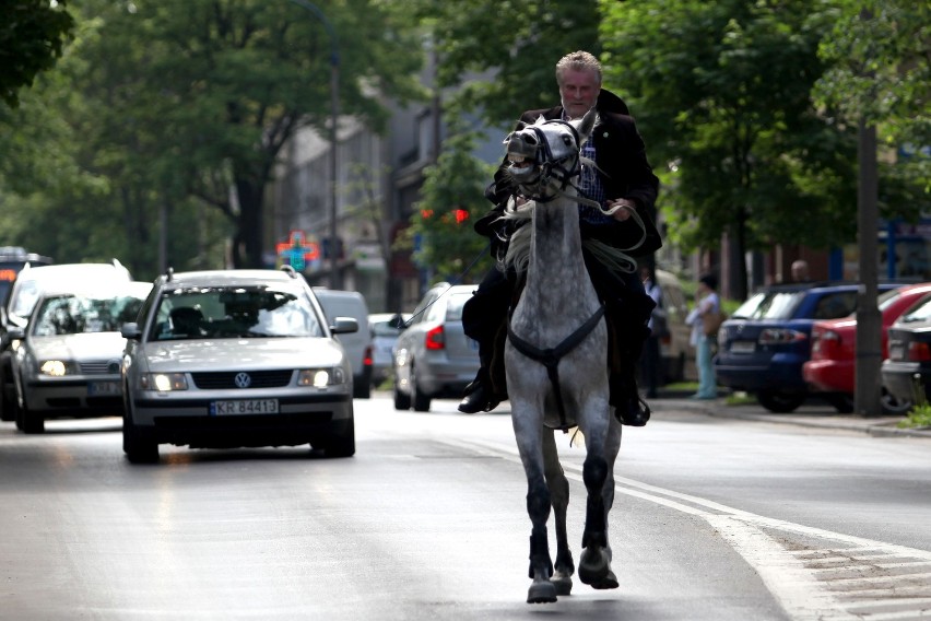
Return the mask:
[[(520, 462), (516, 446), (441, 442)], [(566, 477), (582, 481), (580, 466), (563, 468)], [(931, 551), (765, 517), (633, 479), (615, 477), (615, 484), (616, 493), (705, 519), (757, 572), (791, 619), (931, 619)]]

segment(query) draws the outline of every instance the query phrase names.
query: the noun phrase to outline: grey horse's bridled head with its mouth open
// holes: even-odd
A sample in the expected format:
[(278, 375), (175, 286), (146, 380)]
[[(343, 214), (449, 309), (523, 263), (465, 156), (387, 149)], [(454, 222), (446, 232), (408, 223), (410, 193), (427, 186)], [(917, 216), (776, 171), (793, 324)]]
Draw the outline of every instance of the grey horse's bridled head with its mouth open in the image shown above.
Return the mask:
[[(542, 116), (505, 138), (508, 174), (531, 198), (565, 190), (579, 174), (579, 150), (591, 133), (598, 114), (592, 108), (581, 119), (546, 120)], [(549, 190), (549, 191), (547, 191)]]

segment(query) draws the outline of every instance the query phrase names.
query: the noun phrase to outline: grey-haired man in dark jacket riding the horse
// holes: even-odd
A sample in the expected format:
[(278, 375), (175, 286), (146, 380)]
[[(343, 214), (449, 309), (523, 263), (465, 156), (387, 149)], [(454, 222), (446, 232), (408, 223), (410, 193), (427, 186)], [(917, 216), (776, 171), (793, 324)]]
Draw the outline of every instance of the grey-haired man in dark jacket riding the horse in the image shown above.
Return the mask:
[[(662, 246), (652, 218), (659, 180), (647, 161), (646, 147), (626, 104), (601, 89), (601, 63), (591, 54), (576, 51), (565, 56), (556, 63), (562, 105), (528, 110), (521, 115), (520, 126), (533, 124), (541, 116), (579, 119), (596, 107), (598, 124), (581, 154), (597, 166), (585, 167), (579, 189), (584, 197), (598, 201), (604, 209), (618, 204), (623, 209), (605, 215), (596, 208), (579, 206), (581, 236), (584, 241), (601, 242), (623, 253), (621, 256), (636, 259)], [(510, 199), (517, 204), (526, 200), (518, 195), (506, 169), (507, 161), (485, 191), (495, 208), (475, 223), (476, 232), (491, 237), (492, 254), (496, 258), (504, 256), (515, 226), (512, 221), (500, 220), (503, 210)], [(632, 218), (632, 212), (639, 218)], [(636, 266), (629, 265), (627, 271), (617, 269), (613, 261), (609, 267), (589, 250), (584, 253), (584, 260), (606, 307), (610, 403), (623, 424), (643, 426), (650, 418), (650, 409), (637, 390), (636, 364), (649, 336), (647, 321), (653, 302), (644, 292)], [(503, 362), (506, 319), (519, 289), (515, 273), (493, 268), (463, 308), (462, 325), (466, 333), (479, 342), (481, 368), (459, 403), (462, 412), (490, 411), (507, 399)]]

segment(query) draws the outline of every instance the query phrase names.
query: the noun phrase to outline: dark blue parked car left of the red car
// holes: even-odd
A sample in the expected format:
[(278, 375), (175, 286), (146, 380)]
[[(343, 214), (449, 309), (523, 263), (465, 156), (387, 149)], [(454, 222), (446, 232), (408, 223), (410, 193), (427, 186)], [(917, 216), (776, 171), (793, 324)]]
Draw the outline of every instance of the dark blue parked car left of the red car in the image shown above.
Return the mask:
[[(889, 291), (900, 283), (881, 283)], [(718, 330), (715, 373), (718, 384), (756, 395), (771, 412), (791, 412), (811, 394), (802, 365), (811, 356), (812, 325), (847, 317), (857, 309), (856, 282), (816, 282), (767, 286), (752, 295)], [(838, 411), (852, 405), (837, 394), (824, 396)]]

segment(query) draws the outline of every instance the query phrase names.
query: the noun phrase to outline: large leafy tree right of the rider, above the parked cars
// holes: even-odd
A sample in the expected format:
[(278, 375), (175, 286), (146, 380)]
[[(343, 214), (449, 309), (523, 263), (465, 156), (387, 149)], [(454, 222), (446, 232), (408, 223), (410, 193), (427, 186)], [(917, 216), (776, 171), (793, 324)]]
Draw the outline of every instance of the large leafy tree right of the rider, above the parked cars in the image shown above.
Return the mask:
[(670, 235), (749, 249), (829, 247), (855, 235), (856, 140), (811, 104), (835, 2), (603, 0), (609, 81), (622, 84), (664, 181)]

